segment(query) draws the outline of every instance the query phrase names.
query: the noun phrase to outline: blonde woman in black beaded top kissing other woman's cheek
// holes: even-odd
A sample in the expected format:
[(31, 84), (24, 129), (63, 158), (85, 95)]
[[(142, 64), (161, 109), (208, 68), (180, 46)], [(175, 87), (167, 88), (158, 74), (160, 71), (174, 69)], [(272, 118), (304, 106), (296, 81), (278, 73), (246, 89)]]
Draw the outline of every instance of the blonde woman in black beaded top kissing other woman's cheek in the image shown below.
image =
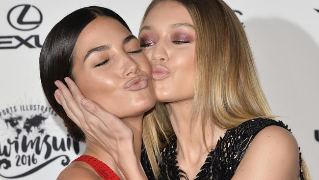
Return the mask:
[[(309, 179), (295, 138), (272, 120), (244, 30), (227, 4), (153, 0), (139, 39), (161, 102), (143, 122), (148, 179)], [(92, 121), (106, 121), (97, 117)], [(86, 132), (101, 146), (111, 139)]]

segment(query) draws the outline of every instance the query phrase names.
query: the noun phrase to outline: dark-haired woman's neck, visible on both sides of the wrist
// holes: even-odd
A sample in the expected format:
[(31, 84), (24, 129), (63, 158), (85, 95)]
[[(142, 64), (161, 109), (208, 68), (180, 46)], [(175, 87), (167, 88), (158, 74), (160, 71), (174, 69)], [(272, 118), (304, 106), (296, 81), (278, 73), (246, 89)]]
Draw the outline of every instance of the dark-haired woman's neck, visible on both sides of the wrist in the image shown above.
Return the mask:
[[(143, 123), (143, 115), (133, 118), (125, 118), (121, 119), (127, 126), (129, 126), (134, 135), (134, 148), (135, 152), (140, 158), (141, 146), (142, 146), (142, 123)], [(123, 147), (125, 148), (125, 147)], [(107, 166), (109, 166), (117, 175), (119, 175), (118, 165), (115, 163), (114, 158), (107, 153), (105, 150), (102, 150), (100, 147), (96, 146), (94, 143), (87, 141), (86, 142), (86, 150), (83, 154), (94, 156), (100, 161), (104, 162)]]

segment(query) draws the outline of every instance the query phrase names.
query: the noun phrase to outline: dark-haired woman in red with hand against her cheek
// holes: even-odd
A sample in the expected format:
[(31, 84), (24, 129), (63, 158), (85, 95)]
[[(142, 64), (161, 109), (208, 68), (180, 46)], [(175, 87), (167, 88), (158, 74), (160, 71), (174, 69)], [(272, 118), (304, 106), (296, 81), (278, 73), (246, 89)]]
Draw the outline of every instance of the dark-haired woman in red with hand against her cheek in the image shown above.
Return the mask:
[[(126, 161), (139, 164), (139, 155), (136, 154), (141, 151), (143, 114), (155, 104), (152, 83), (149, 83), (151, 66), (141, 51), (138, 40), (124, 20), (103, 7), (76, 10), (57, 23), (48, 34), (40, 54), (43, 90), (54, 111), (64, 120), (71, 137), (86, 143), (84, 154), (61, 172), (59, 180), (119, 180), (127, 179), (124, 174), (142, 170), (140, 165), (123, 169), (123, 164), (118, 163), (121, 160), (124, 164)], [(65, 78), (67, 76), (71, 79)], [(57, 91), (56, 86), (59, 88)], [(82, 94), (90, 100), (84, 99)], [(81, 101), (74, 101), (74, 97)], [(88, 111), (73, 114), (65, 112), (59, 104), (73, 112)], [(114, 125), (112, 131), (103, 129), (103, 132), (111, 137), (132, 137), (122, 139), (125, 145), (131, 146), (109, 142), (112, 144), (110, 148), (116, 149), (117, 156), (95, 144), (90, 134), (84, 135), (78, 126), (88, 127), (70, 120), (80, 117), (92, 120), (94, 115), (90, 111), (100, 112), (108, 120), (119, 120), (112, 119), (113, 115), (105, 110), (118, 117), (123, 125)], [(112, 121), (107, 123), (112, 124)], [(96, 128), (94, 124), (90, 125)], [(127, 130), (123, 131), (125, 128)], [(124, 166), (127, 167), (126, 164)], [(134, 169), (136, 167), (137, 170)], [(126, 170), (129, 172), (124, 172)], [(145, 178), (143, 172), (140, 176), (134, 177)]]

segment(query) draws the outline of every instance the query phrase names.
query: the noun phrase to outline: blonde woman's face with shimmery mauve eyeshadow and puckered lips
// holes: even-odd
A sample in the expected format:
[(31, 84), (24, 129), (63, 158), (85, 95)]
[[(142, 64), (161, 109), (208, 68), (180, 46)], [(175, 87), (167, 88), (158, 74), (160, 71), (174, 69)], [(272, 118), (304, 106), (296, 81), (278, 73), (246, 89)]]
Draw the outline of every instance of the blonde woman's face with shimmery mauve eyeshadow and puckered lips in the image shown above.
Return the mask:
[(158, 101), (193, 98), (195, 37), (191, 17), (179, 3), (161, 2), (146, 16), (139, 39), (152, 64)]

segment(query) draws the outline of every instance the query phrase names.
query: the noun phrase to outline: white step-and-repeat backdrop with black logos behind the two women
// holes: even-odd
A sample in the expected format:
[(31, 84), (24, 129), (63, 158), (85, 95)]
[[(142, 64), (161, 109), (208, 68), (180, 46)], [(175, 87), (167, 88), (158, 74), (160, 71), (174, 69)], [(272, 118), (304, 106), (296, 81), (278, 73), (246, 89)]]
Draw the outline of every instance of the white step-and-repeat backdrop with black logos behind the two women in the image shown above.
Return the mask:
[[(319, 0), (226, 0), (245, 28), (275, 113), (289, 124), (319, 180)], [(65, 15), (89, 5), (113, 9), (137, 35), (149, 0), (0, 2), (0, 180), (54, 180), (79, 156), (47, 103), (38, 59)]]

